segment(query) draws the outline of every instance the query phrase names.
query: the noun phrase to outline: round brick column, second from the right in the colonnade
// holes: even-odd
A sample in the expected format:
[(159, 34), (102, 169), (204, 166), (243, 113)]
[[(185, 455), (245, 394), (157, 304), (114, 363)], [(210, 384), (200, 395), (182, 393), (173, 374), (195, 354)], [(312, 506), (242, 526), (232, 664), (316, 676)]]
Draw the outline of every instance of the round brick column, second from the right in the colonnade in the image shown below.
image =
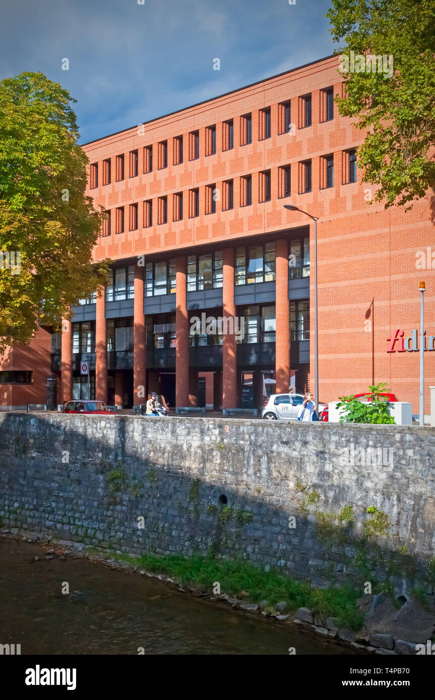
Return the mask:
[[(223, 251), (223, 318), (235, 317), (234, 304), (234, 250)], [(233, 326), (233, 323), (231, 323)], [(234, 326), (233, 326), (234, 327)], [(228, 330), (230, 323), (228, 323)], [(225, 326), (224, 326), (225, 330)], [(237, 356), (234, 333), (223, 335), (223, 388), (222, 407), (237, 408)]]

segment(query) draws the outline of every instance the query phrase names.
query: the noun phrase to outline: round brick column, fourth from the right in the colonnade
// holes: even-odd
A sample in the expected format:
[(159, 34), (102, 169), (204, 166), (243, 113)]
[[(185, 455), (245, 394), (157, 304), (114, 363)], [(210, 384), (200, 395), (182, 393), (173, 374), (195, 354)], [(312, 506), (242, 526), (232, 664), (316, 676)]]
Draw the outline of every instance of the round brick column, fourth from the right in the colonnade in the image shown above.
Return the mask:
[(146, 328), (144, 316), (144, 267), (134, 268), (133, 405), (146, 403)]

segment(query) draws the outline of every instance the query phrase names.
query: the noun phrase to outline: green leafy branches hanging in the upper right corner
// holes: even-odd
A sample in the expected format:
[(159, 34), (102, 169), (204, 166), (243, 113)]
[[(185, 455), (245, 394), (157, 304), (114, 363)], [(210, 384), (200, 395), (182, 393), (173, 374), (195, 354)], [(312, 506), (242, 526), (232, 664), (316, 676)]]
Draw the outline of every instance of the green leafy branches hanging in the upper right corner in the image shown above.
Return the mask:
[(435, 0), (332, 0), (326, 17), (341, 55), (392, 56), (392, 71), (347, 73), (337, 103), (368, 130), (358, 158), (375, 199), (411, 209), (435, 184)]

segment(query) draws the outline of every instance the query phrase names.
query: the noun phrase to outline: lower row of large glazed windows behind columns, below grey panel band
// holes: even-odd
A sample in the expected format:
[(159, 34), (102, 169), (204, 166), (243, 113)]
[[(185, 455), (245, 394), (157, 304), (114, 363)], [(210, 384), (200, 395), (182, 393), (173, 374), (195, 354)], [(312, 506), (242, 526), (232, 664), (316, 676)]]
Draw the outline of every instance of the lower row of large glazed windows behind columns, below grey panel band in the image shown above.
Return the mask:
[[(268, 343), (275, 342), (276, 339), (276, 315), (275, 304), (255, 304), (244, 307), (240, 311), (244, 317), (242, 320), (243, 333), (237, 336), (239, 343)], [(198, 311), (191, 311), (190, 316), (196, 316)], [(157, 321), (157, 323), (156, 323)], [(108, 320), (107, 323), (107, 351), (123, 352), (131, 351), (134, 346), (134, 324), (133, 318), (117, 318)], [(309, 340), (310, 339), (310, 302), (308, 300), (296, 300), (290, 302), (290, 339)], [(189, 344), (191, 346), (222, 345), (222, 328), (216, 328), (216, 335), (206, 335), (196, 333), (191, 330)], [(60, 334), (55, 334), (60, 335)], [(93, 353), (95, 352), (95, 322), (83, 321), (72, 324), (73, 353)], [(167, 314), (164, 318), (147, 317), (146, 323), (147, 344), (152, 344), (155, 349), (175, 347), (176, 325), (174, 314)], [(57, 339), (52, 341), (56, 346)], [(0, 372), (1, 374), (14, 374)], [(30, 374), (20, 372), (15, 374)]]

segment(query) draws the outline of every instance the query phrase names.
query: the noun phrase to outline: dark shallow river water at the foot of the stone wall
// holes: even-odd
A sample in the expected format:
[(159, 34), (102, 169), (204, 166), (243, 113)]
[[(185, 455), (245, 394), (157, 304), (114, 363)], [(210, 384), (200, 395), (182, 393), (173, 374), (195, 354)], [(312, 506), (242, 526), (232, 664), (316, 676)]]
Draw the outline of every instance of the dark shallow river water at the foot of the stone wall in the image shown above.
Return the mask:
[(45, 555), (38, 543), (0, 539), (0, 643), (20, 644), (21, 654), (351, 653), (133, 571)]

